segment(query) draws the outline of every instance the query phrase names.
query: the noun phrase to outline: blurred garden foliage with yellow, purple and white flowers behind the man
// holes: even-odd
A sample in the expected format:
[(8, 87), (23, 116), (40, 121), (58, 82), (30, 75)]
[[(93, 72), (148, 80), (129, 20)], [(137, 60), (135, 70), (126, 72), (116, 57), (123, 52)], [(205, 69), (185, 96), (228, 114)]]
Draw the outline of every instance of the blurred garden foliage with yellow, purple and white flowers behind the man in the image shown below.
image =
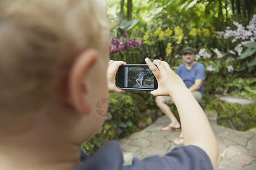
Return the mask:
[[(176, 71), (187, 46), (205, 65), (204, 109), (215, 110), (218, 97), (256, 100), (256, 2), (253, 0), (108, 0), (110, 58), (144, 63), (167, 61)], [(121, 99), (119, 98), (121, 97)], [(118, 98), (118, 100), (112, 99)], [(150, 124), (159, 109), (145, 91), (111, 94), (115, 112), (104, 128), (84, 143), (87, 152), (109, 139)], [(144, 123), (144, 124), (143, 124)], [(104, 138), (99, 138), (99, 135)]]

